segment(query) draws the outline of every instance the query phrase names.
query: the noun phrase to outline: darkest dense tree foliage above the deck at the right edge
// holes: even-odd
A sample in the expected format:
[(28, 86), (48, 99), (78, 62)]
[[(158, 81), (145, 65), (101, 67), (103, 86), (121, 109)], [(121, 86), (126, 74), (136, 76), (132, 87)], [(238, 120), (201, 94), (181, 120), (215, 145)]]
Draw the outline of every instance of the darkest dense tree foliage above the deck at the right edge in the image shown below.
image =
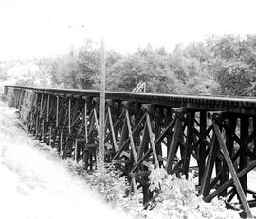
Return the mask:
[(220, 85), (219, 94), (254, 95), (256, 36), (214, 36), (207, 44), (211, 52), (209, 66)]

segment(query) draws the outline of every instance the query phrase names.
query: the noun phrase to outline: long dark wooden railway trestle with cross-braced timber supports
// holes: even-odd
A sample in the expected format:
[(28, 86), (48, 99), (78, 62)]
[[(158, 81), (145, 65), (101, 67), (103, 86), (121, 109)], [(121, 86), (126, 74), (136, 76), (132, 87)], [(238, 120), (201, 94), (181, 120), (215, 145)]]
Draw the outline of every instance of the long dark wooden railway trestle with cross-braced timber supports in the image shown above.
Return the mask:
[[(29, 132), (62, 158), (97, 165), (99, 92), (6, 86), (9, 106), (20, 110)], [(153, 198), (148, 176), (193, 169), (199, 194), (210, 202), (236, 199), (248, 217), (256, 206), (248, 173), (256, 166), (256, 100), (151, 93), (106, 93), (105, 161), (113, 162)]]

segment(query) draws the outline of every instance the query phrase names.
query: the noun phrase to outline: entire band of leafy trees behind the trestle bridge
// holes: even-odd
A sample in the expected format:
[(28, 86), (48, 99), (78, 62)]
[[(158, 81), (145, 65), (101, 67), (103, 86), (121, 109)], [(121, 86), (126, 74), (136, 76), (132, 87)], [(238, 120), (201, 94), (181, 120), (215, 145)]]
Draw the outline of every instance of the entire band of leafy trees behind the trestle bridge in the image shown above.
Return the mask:
[[(31, 64), (36, 68), (24, 67)], [(98, 89), (99, 44), (86, 39), (66, 54), (2, 62), (0, 80), (15, 68), (23, 69), (17, 85)], [(129, 54), (106, 51), (106, 90), (128, 92), (145, 82), (148, 93), (254, 96), (255, 70), (256, 35), (212, 35), (202, 42), (178, 44), (172, 52), (150, 44)]]

